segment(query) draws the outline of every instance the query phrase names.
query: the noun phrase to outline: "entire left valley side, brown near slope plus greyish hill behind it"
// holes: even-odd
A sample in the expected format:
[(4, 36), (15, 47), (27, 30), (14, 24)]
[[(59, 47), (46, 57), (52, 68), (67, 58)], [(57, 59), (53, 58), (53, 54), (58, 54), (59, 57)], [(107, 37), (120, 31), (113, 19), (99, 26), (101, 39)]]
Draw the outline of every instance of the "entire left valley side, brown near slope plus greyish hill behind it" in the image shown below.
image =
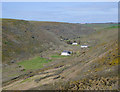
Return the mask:
[(3, 62), (20, 61), (50, 47), (57, 48), (59, 37), (73, 38), (94, 32), (81, 25), (55, 22), (2, 20)]

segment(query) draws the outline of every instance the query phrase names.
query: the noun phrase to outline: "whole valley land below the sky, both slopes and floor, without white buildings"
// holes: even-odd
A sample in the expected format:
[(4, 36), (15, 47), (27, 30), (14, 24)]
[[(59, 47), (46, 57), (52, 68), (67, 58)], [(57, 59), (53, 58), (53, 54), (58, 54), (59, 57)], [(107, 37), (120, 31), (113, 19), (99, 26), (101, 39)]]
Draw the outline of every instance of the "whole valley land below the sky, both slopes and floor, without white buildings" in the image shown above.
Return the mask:
[[(117, 27), (3, 19), (3, 90), (119, 89)], [(63, 50), (73, 53), (64, 57)]]

